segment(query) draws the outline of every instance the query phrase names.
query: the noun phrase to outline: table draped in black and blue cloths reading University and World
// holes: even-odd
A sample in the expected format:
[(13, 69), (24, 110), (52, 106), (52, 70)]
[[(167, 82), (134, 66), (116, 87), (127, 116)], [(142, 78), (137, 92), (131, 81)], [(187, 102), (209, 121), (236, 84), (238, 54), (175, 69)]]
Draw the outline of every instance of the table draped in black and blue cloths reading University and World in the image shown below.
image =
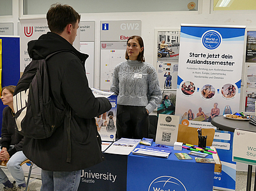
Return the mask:
[(105, 161), (82, 171), (79, 190), (213, 190), (215, 164), (197, 163), (192, 155), (179, 160), (174, 153), (181, 152), (190, 151), (173, 150), (168, 159), (105, 153)]

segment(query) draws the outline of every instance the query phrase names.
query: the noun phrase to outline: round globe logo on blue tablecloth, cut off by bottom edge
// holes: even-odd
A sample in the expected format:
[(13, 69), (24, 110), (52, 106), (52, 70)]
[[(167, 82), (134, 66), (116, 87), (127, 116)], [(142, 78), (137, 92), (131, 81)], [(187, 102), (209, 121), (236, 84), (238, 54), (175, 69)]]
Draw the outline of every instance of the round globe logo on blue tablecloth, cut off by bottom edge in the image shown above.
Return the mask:
[(159, 176), (151, 182), (148, 191), (186, 191), (186, 187), (173, 176)]

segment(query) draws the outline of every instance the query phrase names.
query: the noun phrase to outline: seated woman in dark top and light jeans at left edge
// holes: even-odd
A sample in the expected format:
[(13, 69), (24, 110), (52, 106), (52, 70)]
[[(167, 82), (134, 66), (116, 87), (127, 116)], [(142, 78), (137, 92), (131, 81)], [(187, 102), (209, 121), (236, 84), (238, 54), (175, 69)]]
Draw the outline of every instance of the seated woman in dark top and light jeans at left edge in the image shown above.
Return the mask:
[[(0, 152), (0, 160), (3, 162), (7, 162), (6, 166), (8, 171), (13, 176), (16, 181), (18, 187), (15, 185), (15, 181), (13, 183), (8, 180), (8, 177), (0, 168), (0, 183), (3, 183), (4, 190), (25, 190), (26, 183), (25, 177), (20, 164), (27, 159), (27, 157), (22, 152), (23, 145), (23, 136), (21, 136), (14, 129), (15, 118), (13, 113), (13, 92), (15, 86), (9, 85), (4, 87), (1, 92), (1, 100), (4, 105), (8, 105), (8, 107), (3, 110), (3, 124), (2, 124), (2, 134), (1, 134), (1, 152)], [(27, 189), (29, 190), (29, 189)]]

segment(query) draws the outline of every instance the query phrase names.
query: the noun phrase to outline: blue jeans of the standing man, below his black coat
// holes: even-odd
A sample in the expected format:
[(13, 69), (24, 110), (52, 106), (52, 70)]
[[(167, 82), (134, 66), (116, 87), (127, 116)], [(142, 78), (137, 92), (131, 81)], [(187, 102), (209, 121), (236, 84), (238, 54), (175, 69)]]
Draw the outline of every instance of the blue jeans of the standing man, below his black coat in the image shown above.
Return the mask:
[(44, 171), (41, 170), (41, 190), (76, 191), (79, 188), (81, 170), (79, 171)]

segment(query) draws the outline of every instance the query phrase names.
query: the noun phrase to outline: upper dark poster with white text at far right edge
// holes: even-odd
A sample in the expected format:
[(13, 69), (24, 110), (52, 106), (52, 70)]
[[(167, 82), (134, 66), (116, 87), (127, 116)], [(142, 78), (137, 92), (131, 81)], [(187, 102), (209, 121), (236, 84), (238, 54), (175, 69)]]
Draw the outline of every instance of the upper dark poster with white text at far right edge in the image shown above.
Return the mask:
[(256, 62), (256, 31), (247, 31), (245, 62)]

